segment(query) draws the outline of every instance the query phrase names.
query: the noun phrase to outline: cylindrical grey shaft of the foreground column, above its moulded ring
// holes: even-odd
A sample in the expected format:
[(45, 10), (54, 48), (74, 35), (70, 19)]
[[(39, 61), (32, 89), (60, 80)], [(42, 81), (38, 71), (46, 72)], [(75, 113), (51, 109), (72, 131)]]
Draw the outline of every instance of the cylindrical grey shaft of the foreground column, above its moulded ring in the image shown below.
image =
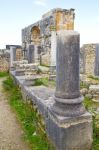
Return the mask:
[(57, 35), (56, 97), (77, 98), (79, 93), (79, 34), (63, 31)]

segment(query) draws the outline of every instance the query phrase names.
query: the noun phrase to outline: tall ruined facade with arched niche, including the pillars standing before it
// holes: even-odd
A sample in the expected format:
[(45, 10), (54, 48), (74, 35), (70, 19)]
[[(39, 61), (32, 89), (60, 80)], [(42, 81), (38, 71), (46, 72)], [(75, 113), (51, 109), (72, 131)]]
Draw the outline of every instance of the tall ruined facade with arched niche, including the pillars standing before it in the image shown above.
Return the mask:
[(53, 9), (38, 22), (22, 29), (22, 47), (29, 63), (56, 66), (57, 32), (73, 30), (74, 17), (74, 9)]

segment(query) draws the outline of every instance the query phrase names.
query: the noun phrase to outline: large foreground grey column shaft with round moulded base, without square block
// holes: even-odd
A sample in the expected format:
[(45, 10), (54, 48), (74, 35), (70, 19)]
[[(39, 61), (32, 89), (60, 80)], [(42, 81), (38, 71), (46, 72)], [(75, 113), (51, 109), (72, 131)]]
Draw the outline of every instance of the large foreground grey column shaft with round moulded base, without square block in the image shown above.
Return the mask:
[(75, 31), (57, 33), (56, 92), (53, 111), (62, 116), (85, 112), (79, 90), (79, 34)]

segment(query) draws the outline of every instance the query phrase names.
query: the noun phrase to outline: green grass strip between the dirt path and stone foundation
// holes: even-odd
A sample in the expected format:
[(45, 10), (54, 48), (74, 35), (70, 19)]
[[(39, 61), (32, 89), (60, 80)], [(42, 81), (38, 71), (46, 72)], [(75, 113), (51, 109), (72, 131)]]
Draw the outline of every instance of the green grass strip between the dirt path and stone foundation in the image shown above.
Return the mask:
[(30, 144), (31, 150), (54, 150), (44, 132), (44, 125), (39, 126), (43, 119), (37, 109), (33, 107), (31, 102), (24, 102), (20, 89), (14, 85), (11, 77), (8, 77), (3, 85), (9, 95), (9, 103), (15, 110), (25, 132), (24, 139)]

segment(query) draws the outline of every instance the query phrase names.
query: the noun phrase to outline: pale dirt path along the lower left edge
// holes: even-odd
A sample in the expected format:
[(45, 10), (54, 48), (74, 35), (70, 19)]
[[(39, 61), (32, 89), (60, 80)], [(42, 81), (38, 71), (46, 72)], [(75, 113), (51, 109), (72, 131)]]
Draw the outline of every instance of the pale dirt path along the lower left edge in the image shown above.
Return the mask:
[(0, 150), (29, 150), (22, 139), (23, 132), (10, 109), (0, 79)]

